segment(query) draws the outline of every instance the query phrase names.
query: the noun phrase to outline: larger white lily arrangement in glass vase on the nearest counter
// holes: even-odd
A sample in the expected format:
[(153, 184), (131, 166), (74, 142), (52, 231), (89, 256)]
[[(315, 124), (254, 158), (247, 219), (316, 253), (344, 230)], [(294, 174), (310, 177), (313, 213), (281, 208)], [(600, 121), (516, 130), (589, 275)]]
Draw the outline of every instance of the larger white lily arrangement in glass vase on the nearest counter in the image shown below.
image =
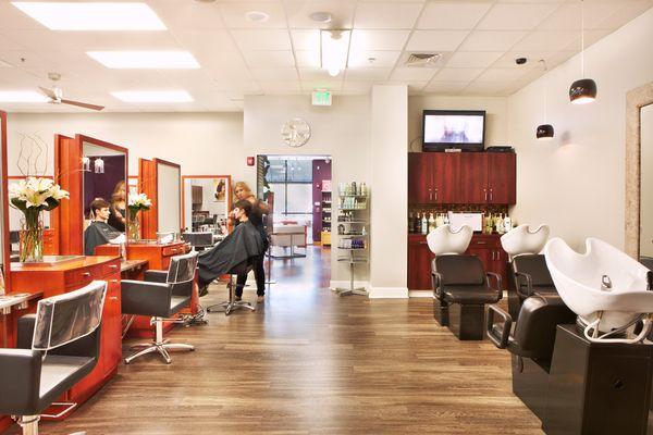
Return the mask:
[(20, 246), (22, 262), (38, 262), (44, 258), (44, 211), (54, 210), (70, 195), (50, 178), (27, 177), (9, 186), (12, 207), (23, 212)]

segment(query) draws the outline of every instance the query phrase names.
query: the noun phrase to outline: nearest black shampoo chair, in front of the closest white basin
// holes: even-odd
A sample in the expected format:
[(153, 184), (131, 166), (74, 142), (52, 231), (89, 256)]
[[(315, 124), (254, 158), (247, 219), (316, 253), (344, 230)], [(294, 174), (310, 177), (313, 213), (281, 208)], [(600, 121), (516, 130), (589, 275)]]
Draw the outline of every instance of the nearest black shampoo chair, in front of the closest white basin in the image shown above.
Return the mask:
[[(495, 322), (495, 314), (501, 318)], [(572, 324), (576, 314), (557, 294), (535, 293), (521, 304), (519, 319), (496, 306), (488, 310), (488, 337), (513, 356), (513, 391), (540, 419), (546, 406), (546, 386), (556, 326)]]

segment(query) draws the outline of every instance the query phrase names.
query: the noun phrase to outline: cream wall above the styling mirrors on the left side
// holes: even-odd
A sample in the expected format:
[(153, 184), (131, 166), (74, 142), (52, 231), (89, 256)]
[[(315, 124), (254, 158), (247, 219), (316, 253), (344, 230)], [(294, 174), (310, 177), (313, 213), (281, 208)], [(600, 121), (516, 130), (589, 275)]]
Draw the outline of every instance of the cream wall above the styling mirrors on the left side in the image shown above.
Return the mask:
[(38, 134), (49, 146), (51, 175), (56, 133), (83, 134), (127, 147), (130, 175), (138, 175), (138, 158), (178, 163), (183, 175), (241, 176), (246, 167), (241, 158), (242, 113), (12, 113), (8, 119), (9, 175), (21, 175), (16, 167), (21, 134)]

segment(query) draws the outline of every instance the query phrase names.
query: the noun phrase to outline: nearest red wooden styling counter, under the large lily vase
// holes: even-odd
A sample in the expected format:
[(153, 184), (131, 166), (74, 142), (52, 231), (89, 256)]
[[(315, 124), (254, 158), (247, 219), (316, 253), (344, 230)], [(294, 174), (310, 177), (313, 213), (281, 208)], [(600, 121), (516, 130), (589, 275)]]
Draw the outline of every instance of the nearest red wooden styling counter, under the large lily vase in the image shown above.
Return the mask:
[[(47, 260), (47, 258), (46, 258)], [(81, 405), (118, 372), (122, 359), (120, 259), (116, 257), (71, 257), (53, 263), (11, 263), (12, 294), (42, 293), (42, 297), (82, 288), (91, 281), (107, 282), (107, 296), (102, 311), (100, 358), (90, 374), (75, 384), (63, 401)], [(34, 312), (30, 304), (25, 312)], [(17, 320), (14, 319), (14, 320)], [(15, 323), (13, 325), (15, 327)], [(10, 338), (15, 346), (15, 335)], [(70, 411), (64, 412), (64, 419)], [(62, 410), (54, 410), (60, 413)]]

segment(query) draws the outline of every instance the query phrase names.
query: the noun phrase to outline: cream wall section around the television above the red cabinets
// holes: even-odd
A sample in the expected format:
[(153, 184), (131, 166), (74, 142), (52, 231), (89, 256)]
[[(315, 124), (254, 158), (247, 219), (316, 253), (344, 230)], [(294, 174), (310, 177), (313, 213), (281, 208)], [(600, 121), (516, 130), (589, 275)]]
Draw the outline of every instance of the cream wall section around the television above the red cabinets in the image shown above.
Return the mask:
[(414, 96), (408, 98), (409, 151), (421, 151), (423, 110), (484, 110), (485, 146), (508, 144), (507, 97)]

